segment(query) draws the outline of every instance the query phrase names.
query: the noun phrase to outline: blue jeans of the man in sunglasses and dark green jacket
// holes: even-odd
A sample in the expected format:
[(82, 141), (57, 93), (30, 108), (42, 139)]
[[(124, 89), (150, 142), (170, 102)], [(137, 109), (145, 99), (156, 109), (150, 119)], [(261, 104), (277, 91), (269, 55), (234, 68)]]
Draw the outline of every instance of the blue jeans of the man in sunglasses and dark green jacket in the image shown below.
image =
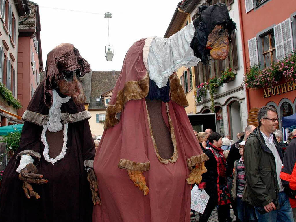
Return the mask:
[[(268, 213), (261, 214), (259, 207), (255, 207), (256, 217), (260, 222), (294, 222), (292, 208), (290, 206), (289, 197), (285, 192), (279, 192), (279, 209), (272, 210)], [(260, 207), (261, 210), (263, 207)], [(263, 208), (264, 209), (264, 208)]]

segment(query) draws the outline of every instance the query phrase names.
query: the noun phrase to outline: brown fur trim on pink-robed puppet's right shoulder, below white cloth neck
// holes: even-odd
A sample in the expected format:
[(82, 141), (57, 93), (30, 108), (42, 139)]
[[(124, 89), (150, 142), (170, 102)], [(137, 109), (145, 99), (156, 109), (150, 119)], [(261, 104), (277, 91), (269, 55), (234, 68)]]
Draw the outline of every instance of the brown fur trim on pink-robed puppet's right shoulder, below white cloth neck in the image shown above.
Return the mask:
[(170, 75), (169, 80), (171, 100), (180, 106), (189, 106), (184, 90), (180, 84), (180, 79), (178, 78), (176, 72), (174, 72), (173, 75)]

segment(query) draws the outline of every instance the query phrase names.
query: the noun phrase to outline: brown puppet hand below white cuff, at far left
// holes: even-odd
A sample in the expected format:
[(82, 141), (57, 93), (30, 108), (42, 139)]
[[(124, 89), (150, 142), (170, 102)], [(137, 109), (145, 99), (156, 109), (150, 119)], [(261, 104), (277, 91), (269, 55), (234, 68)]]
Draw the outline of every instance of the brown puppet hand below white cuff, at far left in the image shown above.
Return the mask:
[(43, 178), (43, 175), (37, 174), (37, 172), (37, 167), (33, 163), (29, 163), (25, 168), (21, 169), (19, 174), (20, 180), (24, 181), (22, 189), (24, 189), (25, 195), (29, 199), (31, 197), (35, 197), (36, 199), (40, 198), (39, 194), (33, 191), (33, 187), (30, 183), (45, 184), (48, 182), (48, 180), (41, 179)]

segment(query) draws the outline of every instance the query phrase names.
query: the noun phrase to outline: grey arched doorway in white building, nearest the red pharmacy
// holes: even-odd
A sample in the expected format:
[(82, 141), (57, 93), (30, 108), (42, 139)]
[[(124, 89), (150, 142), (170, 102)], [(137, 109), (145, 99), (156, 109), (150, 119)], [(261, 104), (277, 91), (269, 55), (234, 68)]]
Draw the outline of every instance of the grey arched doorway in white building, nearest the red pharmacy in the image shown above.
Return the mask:
[(232, 100), (228, 106), (229, 132), (231, 138), (237, 138), (237, 133), (242, 132), (242, 116), (239, 101)]

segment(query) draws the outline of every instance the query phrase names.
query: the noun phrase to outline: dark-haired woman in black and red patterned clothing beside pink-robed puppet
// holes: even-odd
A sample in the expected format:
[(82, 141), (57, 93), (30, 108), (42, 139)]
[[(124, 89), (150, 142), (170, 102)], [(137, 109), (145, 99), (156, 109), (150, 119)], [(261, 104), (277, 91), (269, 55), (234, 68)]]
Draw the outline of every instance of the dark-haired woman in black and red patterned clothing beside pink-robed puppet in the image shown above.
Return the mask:
[(222, 136), (214, 132), (207, 138), (209, 147), (204, 153), (209, 157), (205, 162), (207, 172), (202, 175), (202, 182), (199, 187), (205, 189), (210, 196), (205, 211), (200, 215), (200, 222), (209, 219), (213, 209), (218, 205), (218, 221), (226, 222), (229, 212), (229, 190), (226, 182), (226, 159), (223, 155)]

